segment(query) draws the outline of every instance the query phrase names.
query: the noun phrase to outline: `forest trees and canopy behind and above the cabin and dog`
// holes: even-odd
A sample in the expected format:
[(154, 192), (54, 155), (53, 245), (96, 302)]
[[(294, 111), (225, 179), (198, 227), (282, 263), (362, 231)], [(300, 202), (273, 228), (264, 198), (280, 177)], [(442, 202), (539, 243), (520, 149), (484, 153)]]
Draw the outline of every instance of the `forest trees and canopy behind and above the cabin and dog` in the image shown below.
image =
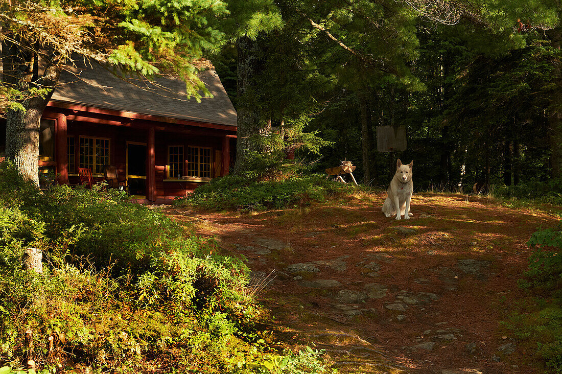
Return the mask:
[[(545, 182), (562, 171), (555, 3), (88, 4), (13, 0), (0, 8), (0, 103), (7, 156), (16, 161), (36, 158), (37, 139), (13, 139), (37, 127), (34, 113), (61, 66), (79, 55), (145, 75), (179, 74), (191, 94), (201, 89), (194, 73), (210, 59), (238, 110), (237, 173), (294, 170), (286, 159), (293, 152), (297, 161), (323, 155), (315, 170), (351, 160), (375, 185), (386, 184), (396, 157), (415, 160), (423, 187)], [(37, 60), (52, 69), (39, 74)], [(30, 100), (35, 94), (42, 98)], [(407, 150), (378, 152), (379, 125), (405, 125)], [(30, 179), (35, 169), (26, 170)]]

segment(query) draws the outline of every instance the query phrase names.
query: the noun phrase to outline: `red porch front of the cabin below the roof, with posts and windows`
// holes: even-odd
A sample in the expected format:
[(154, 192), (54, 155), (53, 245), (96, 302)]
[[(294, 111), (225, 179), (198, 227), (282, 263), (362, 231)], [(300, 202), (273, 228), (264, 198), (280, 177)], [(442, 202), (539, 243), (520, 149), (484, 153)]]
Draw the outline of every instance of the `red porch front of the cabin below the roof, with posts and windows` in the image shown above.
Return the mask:
[[(53, 136), (54, 134), (54, 136)], [(115, 165), (139, 202), (168, 203), (228, 174), (236, 127), (49, 102), (40, 132), (39, 165), (58, 183), (78, 184), (78, 168), (103, 181)], [(50, 138), (50, 141), (49, 141)]]

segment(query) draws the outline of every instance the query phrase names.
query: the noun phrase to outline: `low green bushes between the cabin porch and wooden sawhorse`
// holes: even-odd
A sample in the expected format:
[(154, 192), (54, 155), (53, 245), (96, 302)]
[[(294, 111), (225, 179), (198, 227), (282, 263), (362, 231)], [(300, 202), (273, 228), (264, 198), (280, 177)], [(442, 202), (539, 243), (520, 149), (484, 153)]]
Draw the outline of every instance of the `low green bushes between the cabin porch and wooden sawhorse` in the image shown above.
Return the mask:
[(198, 187), (176, 204), (200, 206), (205, 209), (264, 210), (294, 204), (325, 201), (329, 196), (351, 192), (349, 184), (329, 181), (323, 175), (294, 176), (280, 181), (248, 179), (227, 175)]

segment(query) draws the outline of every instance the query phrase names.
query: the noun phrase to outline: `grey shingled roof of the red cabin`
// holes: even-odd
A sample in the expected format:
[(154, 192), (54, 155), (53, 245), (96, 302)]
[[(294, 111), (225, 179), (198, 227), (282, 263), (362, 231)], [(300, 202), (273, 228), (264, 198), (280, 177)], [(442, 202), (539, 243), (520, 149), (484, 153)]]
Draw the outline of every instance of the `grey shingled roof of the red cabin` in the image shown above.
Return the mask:
[(72, 71), (75, 74), (61, 74), (62, 85), (53, 93), (52, 101), (236, 126), (234, 106), (213, 70), (199, 74), (213, 95), (203, 97), (200, 103), (185, 98), (185, 83), (179, 79), (157, 78), (156, 84), (138, 78), (124, 80), (97, 62)]

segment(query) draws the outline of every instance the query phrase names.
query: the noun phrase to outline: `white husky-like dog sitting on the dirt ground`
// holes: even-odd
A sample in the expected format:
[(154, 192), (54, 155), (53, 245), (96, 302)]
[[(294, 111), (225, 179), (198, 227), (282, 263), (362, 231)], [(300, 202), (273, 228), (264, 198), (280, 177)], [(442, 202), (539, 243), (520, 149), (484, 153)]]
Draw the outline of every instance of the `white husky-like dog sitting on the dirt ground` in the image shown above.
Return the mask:
[(408, 165), (402, 165), (402, 161), (396, 161), (396, 173), (388, 186), (388, 197), (384, 200), (383, 213), (386, 217), (396, 214), (396, 219), (401, 219), (400, 215), (404, 215), (404, 219), (410, 219), (413, 214), (410, 213), (410, 200), (414, 191), (414, 183), (412, 182), (412, 161)]

